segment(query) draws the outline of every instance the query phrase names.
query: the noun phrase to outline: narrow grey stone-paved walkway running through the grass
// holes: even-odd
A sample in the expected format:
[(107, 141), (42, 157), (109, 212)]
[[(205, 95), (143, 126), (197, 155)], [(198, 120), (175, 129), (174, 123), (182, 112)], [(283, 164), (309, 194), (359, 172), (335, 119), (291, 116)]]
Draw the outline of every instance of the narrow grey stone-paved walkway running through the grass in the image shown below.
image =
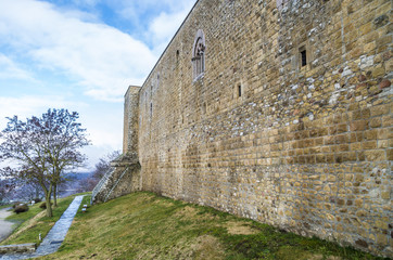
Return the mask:
[(62, 217), (49, 231), (48, 235), (43, 238), (42, 243), (37, 248), (36, 252), (33, 253), (18, 253), (18, 255), (3, 255), (0, 256), (1, 260), (16, 260), (16, 259), (28, 259), (47, 256), (58, 251), (59, 247), (62, 245), (65, 235), (68, 232), (71, 223), (74, 220), (74, 217), (80, 206), (81, 199), (84, 196), (76, 196), (71, 203), (69, 207), (64, 211)]

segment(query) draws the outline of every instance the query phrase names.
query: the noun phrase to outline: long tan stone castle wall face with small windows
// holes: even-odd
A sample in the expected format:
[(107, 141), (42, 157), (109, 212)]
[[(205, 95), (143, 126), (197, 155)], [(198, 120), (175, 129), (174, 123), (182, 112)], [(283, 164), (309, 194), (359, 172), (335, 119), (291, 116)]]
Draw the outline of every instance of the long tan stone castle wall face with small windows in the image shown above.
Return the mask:
[(392, 257), (391, 14), (390, 0), (198, 1), (126, 131), (141, 188)]

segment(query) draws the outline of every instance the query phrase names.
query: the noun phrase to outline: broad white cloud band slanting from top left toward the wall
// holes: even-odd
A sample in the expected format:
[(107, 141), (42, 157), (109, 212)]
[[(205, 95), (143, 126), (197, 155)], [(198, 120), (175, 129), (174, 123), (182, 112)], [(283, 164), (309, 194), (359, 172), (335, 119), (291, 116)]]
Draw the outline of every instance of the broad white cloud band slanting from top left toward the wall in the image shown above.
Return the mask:
[(84, 22), (78, 12), (35, 0), (0, 0), (0, 38), (35, 65), (68, 75), (97, 99), (118, 100), (126, 86), (143, 81), (156, 61), (141, 41)]

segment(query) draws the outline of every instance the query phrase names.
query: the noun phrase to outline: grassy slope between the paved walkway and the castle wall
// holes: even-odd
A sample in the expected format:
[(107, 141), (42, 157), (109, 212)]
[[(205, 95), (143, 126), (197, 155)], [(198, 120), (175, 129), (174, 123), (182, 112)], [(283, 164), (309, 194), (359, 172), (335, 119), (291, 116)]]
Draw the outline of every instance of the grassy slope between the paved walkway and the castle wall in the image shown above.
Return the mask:
[(379, 258), (212, 208), (134, 193), (79, 211), (60, 250), (42, 259)]

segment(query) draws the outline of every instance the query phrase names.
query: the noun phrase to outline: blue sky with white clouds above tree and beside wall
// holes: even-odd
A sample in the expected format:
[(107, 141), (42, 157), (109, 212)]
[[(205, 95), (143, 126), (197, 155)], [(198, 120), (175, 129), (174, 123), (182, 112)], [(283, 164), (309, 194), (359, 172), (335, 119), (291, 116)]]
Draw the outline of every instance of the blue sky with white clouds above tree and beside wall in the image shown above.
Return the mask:
[(0, 0), (0, 129), (67, 108), (92, 145), (122, 148), (123, 96), (140, 86), (196, 0)]

